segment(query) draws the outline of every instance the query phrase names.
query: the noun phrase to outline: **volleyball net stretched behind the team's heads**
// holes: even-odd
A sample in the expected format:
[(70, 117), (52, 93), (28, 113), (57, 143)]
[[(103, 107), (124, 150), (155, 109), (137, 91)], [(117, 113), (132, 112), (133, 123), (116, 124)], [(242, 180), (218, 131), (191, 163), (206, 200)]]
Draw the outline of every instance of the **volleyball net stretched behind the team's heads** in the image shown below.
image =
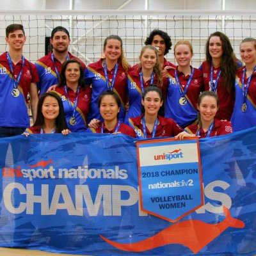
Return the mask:
[[(256, 14), (239, 15), (234, 13), (190, 13), (176, 10), (175, 13), (161, 11), (152, 13), (147, 11), (112, 10), (104, 15), (101, 13), (81, 13), (74, 11), (61, 11), (61, 13), (16, 13), (0, 15), (0, 51), (8, 50), (4, 40), (5, 28), (9, 24), (23, 24), (27, 36), (24, 45), (24, 56), (35, 62), (49, 51), (49, 38), (56, 26), (63, 26), (70, 31), (70, 49), (72, 54), (78, 56), (86, 65), (99, 60), (102, 54), (102, 45), (108, 35), (119, 35), (124, 44), (127, 61), (133, 65), (138, 62), (141, 47), (146, 37), (153, 29), (166, 31), (172, 38), (173, 45), (179, 40), (189, 40), (193, 45), (193, 66), (199, 67), (205, 58), (205, 43), (208, 36), (214, 31), (222, 31), (229, 38), (236, 56), (239, 58), (239, 44), (246, 37), (256, 35)], [(184, 13), (182, 15), (182, 12)], [(115, 15), (116, 13), (116, 15)], [(131, 15), (134, 13), (134, 15)], [(243, 13), (243, 12), (241, 12)], [(143, 14), (143, 15), (142, 15)], [(173, 46), (166, 55), (169, 61), (175, 63)]]

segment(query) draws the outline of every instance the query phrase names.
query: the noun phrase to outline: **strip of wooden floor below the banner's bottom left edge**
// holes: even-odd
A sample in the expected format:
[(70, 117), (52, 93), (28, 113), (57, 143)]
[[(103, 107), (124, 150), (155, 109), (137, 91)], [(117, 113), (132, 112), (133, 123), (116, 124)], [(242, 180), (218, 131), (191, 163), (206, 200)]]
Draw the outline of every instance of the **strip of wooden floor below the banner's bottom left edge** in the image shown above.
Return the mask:
[(42, 252), (42, 251), (34, 251), (34, 250), (24, 250), (24, 249), (0, 248), (0, 256), (77, 256), (77, 255)]

